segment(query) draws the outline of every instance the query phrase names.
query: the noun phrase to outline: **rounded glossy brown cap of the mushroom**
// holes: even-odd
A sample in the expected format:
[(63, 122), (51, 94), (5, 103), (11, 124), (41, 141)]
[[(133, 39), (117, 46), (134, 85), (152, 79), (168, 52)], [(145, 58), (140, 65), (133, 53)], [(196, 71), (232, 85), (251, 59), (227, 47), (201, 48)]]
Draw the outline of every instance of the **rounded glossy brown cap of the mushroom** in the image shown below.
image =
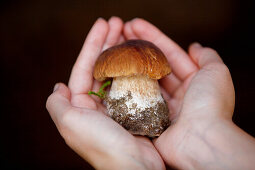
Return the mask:
[(144, 40), (129, 40), (105, 50), (97, 59), (94, 78), (146, 75), (161, 79), (171, 72), (163, 52)]

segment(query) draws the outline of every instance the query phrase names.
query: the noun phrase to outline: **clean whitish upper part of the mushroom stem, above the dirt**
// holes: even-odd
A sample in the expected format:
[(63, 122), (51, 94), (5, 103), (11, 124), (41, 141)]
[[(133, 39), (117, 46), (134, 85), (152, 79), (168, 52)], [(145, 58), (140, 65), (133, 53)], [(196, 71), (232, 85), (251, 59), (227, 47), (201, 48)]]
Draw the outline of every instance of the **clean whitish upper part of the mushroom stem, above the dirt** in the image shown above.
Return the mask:
[[(131, 99), (125, 104), (130, 114), (135, 114), (136, 109), (145, 110), (155, 107), (159, 102), (164, 102), (160, 93), (160, 87), (157, 80), (150, 79), (147, 76), (116, 77), (113, 79), (109, 96), (111, 99), (119, 100), (127, 95)], [(136, 107), (134, 108), (134, 105)], [(109, 114), (114, 114), (108, 106)]]

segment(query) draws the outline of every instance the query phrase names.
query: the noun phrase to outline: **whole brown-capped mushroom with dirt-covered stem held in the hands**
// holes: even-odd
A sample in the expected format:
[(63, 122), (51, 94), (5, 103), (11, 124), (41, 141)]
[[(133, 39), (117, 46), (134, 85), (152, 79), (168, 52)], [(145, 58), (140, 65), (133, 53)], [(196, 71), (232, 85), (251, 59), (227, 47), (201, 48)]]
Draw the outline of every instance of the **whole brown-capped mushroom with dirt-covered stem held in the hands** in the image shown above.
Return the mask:
[(144, 40), (129, 40), (98, 57), (94, 78), (113, 78), (105, 97), (112, 119), (132, 134), (155, 137), (170, 124), (169, 110), (157, 81), (170, 72), (158, 47)]

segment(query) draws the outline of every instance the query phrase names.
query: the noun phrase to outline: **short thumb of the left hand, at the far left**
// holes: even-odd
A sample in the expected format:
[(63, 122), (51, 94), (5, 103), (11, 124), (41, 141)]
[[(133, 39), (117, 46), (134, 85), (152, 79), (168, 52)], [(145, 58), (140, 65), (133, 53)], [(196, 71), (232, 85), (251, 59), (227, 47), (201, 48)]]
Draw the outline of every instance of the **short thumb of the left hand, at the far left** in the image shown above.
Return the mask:
[(46, 108), (55, 124), (58, 124), (57, 120), (59, 117), (63, 116), (63, 114), (72, 108), (70, 98), (70, 90), (64, 84), (58, 83), (55, 85), (54, 92), (46, 102)]

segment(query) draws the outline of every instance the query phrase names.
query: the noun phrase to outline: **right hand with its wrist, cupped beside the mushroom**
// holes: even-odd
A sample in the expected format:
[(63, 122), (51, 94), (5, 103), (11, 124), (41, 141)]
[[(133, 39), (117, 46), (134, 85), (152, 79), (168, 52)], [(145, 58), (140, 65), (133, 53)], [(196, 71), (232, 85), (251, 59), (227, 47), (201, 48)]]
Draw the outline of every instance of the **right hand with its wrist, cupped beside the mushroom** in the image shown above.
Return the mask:
[(188, 53), (145, 20), (124, 26), (127, 39), (153, 42), (166, 55), (172, 73), (160, 81), (172, 125), (154, 145), (178, 169), (249, 169), (255, 140), (235, 126), (234, 87), (217, 52), (198, 43)]

